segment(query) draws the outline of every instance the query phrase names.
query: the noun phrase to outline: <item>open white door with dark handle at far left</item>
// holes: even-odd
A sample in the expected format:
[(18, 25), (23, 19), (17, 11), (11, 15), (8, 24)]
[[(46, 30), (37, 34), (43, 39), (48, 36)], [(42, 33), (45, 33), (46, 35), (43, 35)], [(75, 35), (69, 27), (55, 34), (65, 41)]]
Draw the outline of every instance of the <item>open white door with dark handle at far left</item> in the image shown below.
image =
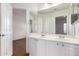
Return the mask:
[(12, 7), (9, 3), (1, 3), (1, 55), (12, 55)]

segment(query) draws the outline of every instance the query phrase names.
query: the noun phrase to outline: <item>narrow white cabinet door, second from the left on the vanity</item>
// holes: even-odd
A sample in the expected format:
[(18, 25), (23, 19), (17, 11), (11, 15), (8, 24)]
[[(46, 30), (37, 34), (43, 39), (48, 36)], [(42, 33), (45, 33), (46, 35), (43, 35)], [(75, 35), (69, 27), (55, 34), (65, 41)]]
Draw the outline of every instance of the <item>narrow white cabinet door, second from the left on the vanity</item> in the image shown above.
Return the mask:
[(37, 44), (37, 56), (46, 55), (46, 40), (39, 39)]

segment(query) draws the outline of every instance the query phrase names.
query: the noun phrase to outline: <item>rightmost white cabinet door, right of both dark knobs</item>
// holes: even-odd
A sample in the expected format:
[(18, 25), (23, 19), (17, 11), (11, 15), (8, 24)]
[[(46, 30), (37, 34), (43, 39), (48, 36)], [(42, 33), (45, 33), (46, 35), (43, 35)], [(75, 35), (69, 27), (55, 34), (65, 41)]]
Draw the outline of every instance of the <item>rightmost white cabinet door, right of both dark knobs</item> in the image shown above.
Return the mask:
[(79, 46), (74, 44), (65, 44), (66, 56), (79, 56)]

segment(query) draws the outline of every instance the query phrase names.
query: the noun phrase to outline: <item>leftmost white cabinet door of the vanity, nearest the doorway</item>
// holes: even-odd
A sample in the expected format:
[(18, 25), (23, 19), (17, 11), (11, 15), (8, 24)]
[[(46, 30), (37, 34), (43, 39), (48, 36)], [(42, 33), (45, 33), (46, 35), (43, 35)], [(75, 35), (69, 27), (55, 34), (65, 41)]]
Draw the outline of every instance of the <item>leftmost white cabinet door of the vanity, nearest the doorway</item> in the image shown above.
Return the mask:
[(37, 39), (29, 39), (29, 52), (31, 56), (37, 55)]

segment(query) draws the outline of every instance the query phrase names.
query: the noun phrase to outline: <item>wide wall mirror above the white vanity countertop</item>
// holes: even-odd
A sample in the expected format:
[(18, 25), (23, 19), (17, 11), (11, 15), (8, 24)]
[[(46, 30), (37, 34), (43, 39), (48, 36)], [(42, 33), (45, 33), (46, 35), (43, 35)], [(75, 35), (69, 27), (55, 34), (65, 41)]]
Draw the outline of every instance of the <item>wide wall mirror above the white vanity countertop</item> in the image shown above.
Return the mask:
[[(66, 5), (66, 4), (64, 4)], [(74, 5), (74, 4), (72, 4)], [(77, 6), (67, 4), (67, 8), (59, 8), (53, 11), (39, 11), (34, 15), (32, 20), (32, 33), (49, 33), (49, 34), (64, 34), (76, 35), (79, 27), (79, 18)], [(62, 6), (63, 7), (63, 6)], [(70, 8), (72, 8), (70, 10)], [(50, 9), (49, 9), (50, 10)], [(77, 23), (77, 24), (76, 24)], [(78, 25), (78, 27), (76, 27)]]

